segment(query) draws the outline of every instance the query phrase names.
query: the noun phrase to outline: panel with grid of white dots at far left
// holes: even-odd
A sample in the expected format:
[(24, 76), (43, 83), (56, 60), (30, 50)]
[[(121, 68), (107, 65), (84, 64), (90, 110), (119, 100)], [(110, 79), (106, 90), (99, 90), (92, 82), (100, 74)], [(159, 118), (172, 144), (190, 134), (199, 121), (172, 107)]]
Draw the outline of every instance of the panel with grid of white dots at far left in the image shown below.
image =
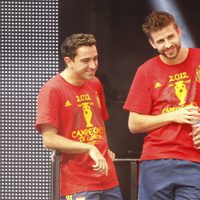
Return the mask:
[(58, 0), (0, 1), (0, 199), (50, 200), (36, 97), (57, 72)]

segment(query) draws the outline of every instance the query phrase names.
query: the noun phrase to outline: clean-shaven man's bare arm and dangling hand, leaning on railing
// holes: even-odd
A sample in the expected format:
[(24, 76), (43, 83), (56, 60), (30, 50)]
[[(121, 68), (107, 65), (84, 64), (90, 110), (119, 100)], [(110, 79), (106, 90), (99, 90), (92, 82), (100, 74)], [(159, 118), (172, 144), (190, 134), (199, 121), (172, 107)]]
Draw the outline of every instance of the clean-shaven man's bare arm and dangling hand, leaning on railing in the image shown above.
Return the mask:
[(56, 149), (64, 153), (88, 153), (94, 160), (92, 166), (95, 171), (108, 174), (106, 159), (99, 150), (91, 144), (76, 142), (57, 134), (57, 129), (51, 125), (41, 125), (43, 145), (46, 149)]

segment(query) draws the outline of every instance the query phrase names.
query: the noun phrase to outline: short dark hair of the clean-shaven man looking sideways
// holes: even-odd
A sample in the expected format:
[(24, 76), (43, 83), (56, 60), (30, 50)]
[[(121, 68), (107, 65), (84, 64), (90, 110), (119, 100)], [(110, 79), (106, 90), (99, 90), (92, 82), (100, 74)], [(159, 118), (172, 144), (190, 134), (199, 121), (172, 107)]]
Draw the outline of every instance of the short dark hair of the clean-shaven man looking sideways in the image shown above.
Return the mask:
[(67, 37), (61, 45), (61, 54), (72, 60), (76, 57), (77, 49), (82, 46), (96, 45), (96, 39), (92, 34), (75, 33)]

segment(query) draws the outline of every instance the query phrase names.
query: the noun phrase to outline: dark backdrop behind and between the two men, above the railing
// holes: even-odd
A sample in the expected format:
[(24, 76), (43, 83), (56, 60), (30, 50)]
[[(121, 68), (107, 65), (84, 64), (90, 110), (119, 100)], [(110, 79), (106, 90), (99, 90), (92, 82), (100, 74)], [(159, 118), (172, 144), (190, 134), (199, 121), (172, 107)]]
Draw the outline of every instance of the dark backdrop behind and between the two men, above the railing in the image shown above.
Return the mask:
[[(193, 40), (200, 43), (200, 3), (176, 2)], [(59, 2), (59, 43), (76, 32), (93, 33), (98, 42), (99, 69), (110, 120), (108, 140), (118, 158), (138, 158), (144, 134), (132, 135), (127, 126), (128, 112), (122, 109), (137, 67), (157, 54), (141, 30), (152, 11), (151, 0), (61, 0)], [(157, 1), (159, 3), (159, 1)], [(63, 67), (60, 57), (60, 69)], [(142, 83), (141, 83), (142, 84)]]

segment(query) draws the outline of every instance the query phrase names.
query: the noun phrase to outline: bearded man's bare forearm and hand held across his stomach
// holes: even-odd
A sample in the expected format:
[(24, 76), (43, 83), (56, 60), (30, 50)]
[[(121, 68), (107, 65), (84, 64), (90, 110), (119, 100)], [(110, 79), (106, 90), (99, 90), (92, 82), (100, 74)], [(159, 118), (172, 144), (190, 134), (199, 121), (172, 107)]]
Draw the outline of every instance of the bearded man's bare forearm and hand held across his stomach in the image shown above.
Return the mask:
[(152, 131), (170, 123), (193, 124), (200, 118), (199, 108), (186, 106), (179, 110), (160, 115), (142, 115), (130, 112), (128, 127), (131, 133), (142, 133)]

